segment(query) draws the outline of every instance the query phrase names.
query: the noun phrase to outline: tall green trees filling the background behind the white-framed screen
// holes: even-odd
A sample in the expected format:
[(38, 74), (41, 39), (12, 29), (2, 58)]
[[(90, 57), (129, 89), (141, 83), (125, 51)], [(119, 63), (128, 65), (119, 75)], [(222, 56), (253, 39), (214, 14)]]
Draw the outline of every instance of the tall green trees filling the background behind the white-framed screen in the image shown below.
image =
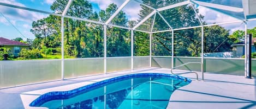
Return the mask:
[[(162, 0), (147, 1), (144, 4), (152, 7), (161, 7)], [(173, 0), (165, 1), (172, 4)], [(56, 0), (51, 5), (52, 11), (62, 14), (68, 0)], [(128, 21), (125, 12), (120, 11), (110, 22), (111, 24), (124, 27), (134, 27), (153, 10), (141, 5), (139, 20)], [(93, 12), (92, 4), (87, 0), (75, 0), (70, 5), (67, 15), (87, 18), (89, 20), (105, 22), (117, 10), (117, 5), (112, 3), (106, 10), (99, 13)], [(198, 12), (198, 10), (196, 10)], [(161, 15), (175, 28), (192, 27), (200, 25), (196, 14), (190, 5), (176, 7), (160, 12)], [(204, 16), (199, 15), (200, 18)], [(149, 18), (138, 29), (151, 31), (153, 17)], [(204, 24), (206, 24), (204, 22)], [(165, 26), (164, 26), (165, 25)], [(162, 18), (157, 15), (153, 30), (170, 29)], [(103, 57), (104, 56), (104, 31), (103, 25), (85, 21), (64, 18), (64, 55), (69, 57)], [(38, 49), (47, 59), (58, 59), (61, 54), (61, 17), (50, 15), (32, 23), (31, 32), (35, 35), (34, 40), (27, 39), (32, 49)], [(229, 31), (220, 26), (205, 27), (205, 52), (226, 52), (230, 50), (230, 44), (241, 41), (242, 31), (237, 31), (229, 36)], [(251, 31), (252, 33), (253, 31)], [(134, 31), (134, 55), (149, 55), (149, 35)], [(200, 56), (201, 53), (201, 29), (188, 29), (175, 31), (174, 46), (176, 56)], [(107, 29), (107, 55), (108, 56), (130, 56), (130, 30), (116, 27)], [(223, 42), (223, 43), (222, 43)], [(171, 33), (153, 34), (152, 55), (171, 54)], [(222, 44), (220, 47), (219, 44)], [(217, 48), (217, 49), (216, 49)], [(56, 55), (53, 56), (53, 55)], [(26, 56), (25, 56), (26, 57)]]

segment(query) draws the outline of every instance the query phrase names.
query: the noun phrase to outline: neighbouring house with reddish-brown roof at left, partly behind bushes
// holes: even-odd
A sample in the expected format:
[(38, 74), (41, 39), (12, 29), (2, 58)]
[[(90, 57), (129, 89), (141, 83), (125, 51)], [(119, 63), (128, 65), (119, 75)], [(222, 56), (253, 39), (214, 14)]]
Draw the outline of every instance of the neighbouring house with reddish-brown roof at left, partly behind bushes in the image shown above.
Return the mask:
[(18, 56), (21, 49), (29, 48), (29, 44), (22, 43), (19, 41), (8, 40), (3, 37), (0, 37), (0, 47), (10, 48), (11, 52), (14, 54), (14, 56)]

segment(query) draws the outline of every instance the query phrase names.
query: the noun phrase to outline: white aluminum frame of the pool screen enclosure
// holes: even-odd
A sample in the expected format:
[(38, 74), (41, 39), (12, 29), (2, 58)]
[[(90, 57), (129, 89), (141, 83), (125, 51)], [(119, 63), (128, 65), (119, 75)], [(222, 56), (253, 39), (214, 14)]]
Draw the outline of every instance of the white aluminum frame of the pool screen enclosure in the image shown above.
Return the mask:
[[(140, 31), (143, 33), (148, 33), (150, 34), (150, 67), (152, 67), (152, 34), (153, 33), (163, 33), (166, 31), (172, 31), (172, 53), (171, 53), (171, 57), (172, 57), (172, 68), (174, 68), (174, 31), (175, 30), (183, 30), (183, 29), (192, 29), (192, 28), (200, 28), (201, 27), (201, 62), (202, 62), (202, 73), (204, 72), (203, 67), (204, 67), (204, 27), (207, 26), (212, 26), (212, 25), (220, 25), (220, 24), (231, 24), (231, 23), (239, 23), (239, 22), (245, 22), (245, 30), (247, 30), (247, 22), (246, 21), (253, 21), (256, 20), (256, 18), (253, 19), (249, 19), (249, 20), (241, 20), (240, 18), (236, 18), (234, 16), (230, 16), (233, 18), (236, 18), (239, 21), (235, 21), (235, 22), (225, 22), (225, 23), (217, 23), (217, 24), (207, 24), (207, 25), (203, 25), (203, 22), (201, 21), (201, 19), (199, 18), (195, 8), (193, 7), (193, 10), (195, 11), (195, 14), (200, 22), (201, 25), (198, 26), (194, 26), (194, 27), (185, 27), (185, 28), (178, 28), (178, 29), (173, 29), (171, 27), (171, 25), (165, 20), (165, 18), (160, 14), (160, 11), (164, 11), (164, 10), (168, 10), (168, 9), (172, 9), (172, 8), (176, 8), (176, 7), (180, 7), (182, 5), (187, 5), (187, 4), (197, 4), (197, 5), (201, 5), (202, 7), (210, 7), (210, 8), (217, 8), (217, 9), (222, 9), (222, 10), (228, 10), (228, 11), (234, 11), (234, 12), (243, 12), (244, 9), (243, 8), (237, 8), (237, 7), (231, 7), (231, 6), (227, 6), (227, 5), (221, 5), (221, 4), (215, 4), (215, 3), (207, 3), (207, 2), (200, 2), (200, 1), (194, 1), (194, 0), (188, 0), (188, 1), (184, 1), (184, 2), (180, 2), (180, 3), (176, 3), (176, 4), (171, 4), (168, 5), (166, 7), (162, 7), (162, 8), (152, 8), (151, 6), (141, 3), (138, 0), (134, 0), (135, 2), (141, 3), (141, 5), (144, 5), (145, 7), (148, 7), (150, 9), (153, 9), (153, 11), (148, 14), (143, 20), (141, 20), (138, 24), (136, 24), (133, 28), (127, 28), (127, 27), (123, 27), (123, 26), (119, 26), (119, 25), (114, 25), (114, 24), (109, 24), (112, 19), (132, 0), (126, 0), (115, 12), (114, 14), (105, 22), (99, 22), (99, 21), (93, 21), (93, 20), (88, 20), (86, 18), (79, 18), (79, 17), (73, 17), (73, 16), (68, 16), (67, 15), (67, 11), (70, 8), (70, 5), (73, 3), (73, 0), (69, 0), (66, 8), (63, 10), (62, 14), (56, 14), (56, 13), (52, 13), (52, 12), (47, 12), (47, 11), (43, 11), (43, 10), (38, 10), (38, 9), (32, 9), (32, 8), (26, 8), (26, 7), (20, 7), (17, 5), (13, 5), (13, 4), (7, 4), (7, 3), (1, 3), (0, 5), (4, 6), (4, 7), (10, 7), (10, 8), (16, 8), (16, 9), (22, 9), (22, 10), (27, 10), (27, 11), (33, 11), (33, 12), (39, 12), (41, 14), (48, 14), (48, 15), (55, 15), (55, 16), (60, 16), (61, 17), (61, 53), (62, 53), (62, 68), (61, 68), (61, 73), (62, 73), (62, 80), (64, 80), (64, 18), (72, 18), (74, 20), (81, 20), (81, 21), (86, 21), (86, 22), (91, 22), (91, 23), (96, 23), (96, 24), (102, 24), (104, 25), (104, 73), (106, 74), (106, 31), (107, 31), (107, 26), (111, 26), (111, 27), (117, 27), (117, 28), (123, 28), (123, 29), (128, 29), (131, 30), (131, 58), (132, 58), (132, 68), (133, 69), (133, 38), (134, 38), (134, 31)], [(223, 12), (221, 12), (223, 13)], [(153, 32), (153, 26), (154, 26), (154, 21), (156, 19), (156, 14), (159, 14), (160, 17), (164, 20), (164, 22), (171, 28), (170, 30), (162, 30), (162, 31), (154, 31)], [(224, 13), (223, 13), (224, 14)], [(154, 21), (152, 24), (152, 28), (151, 31), (143, 31), (143, 30), (138, 30), (136, 28), (138, 28), (142, 23), (144, 23), (146, 20), (148, 20), (148, 18), (150, 18), (152, 15), (154, 15)], [(246, 18), (246, 17), (245, 17)], [(247, 35), (247, 31), (245, 31), (245, 35)], [(246, 37), (247, 39), (247, 37)], [(247, 41), (245, 41), (247, 43)], [(248, 48), (247, 48), (248, 49)], [(247, 53), (246, 53), (247, 54)], [(245, 76), (247, 76), (247, 57), (245, 59)], [(204, 75), (202, 75), (202, 78), (204, 79)]]

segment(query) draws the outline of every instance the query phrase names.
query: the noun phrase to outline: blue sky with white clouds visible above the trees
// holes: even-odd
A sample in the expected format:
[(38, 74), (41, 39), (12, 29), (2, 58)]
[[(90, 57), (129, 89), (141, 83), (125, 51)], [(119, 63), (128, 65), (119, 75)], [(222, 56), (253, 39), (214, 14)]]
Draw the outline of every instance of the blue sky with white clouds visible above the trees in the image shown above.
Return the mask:
[[(105, 10), (109, 4), (115, 3), (120, 7), (125, 0), (88, 0), (92, 6), (93, 11), (99, 12)], [(50, 7), (54, 0), (0, 0), (2, 3), (13, 4), (21, 7), (44, 10), (53, 12)], [(197, 7), (199, 14), (205, 16), (204, 20), (207, 24), (223, 23), (230, 21), (237, 21), (236, 18), (221, 14), (209, 8)], [(126, 12), (128, 20), (138, 20), (139, 10), (141, 10), (140, 3), (131, 1), (122, 11)], [(22, 39), (34, 39), (31, 33), (32, 22), (49, 15), (40, 14), (38, 12), (26, 11), (15, 8), (7, 8), (0, 5), (0, 37), (7, 39), (15, 39), (15, 37), (22, 37)], [(245, 25), (242, 23), (221, 25), (230, 30), (230, 34), (235, 30), (244, 30)], [(256, 27), (256, 22), (249, 22), (248, 28)]]

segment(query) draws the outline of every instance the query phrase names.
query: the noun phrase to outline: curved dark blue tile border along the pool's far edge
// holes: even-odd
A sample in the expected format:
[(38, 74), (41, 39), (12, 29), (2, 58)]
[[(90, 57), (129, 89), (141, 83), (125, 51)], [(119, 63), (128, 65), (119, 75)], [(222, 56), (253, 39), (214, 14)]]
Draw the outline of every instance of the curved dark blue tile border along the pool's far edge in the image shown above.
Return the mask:
[(185, 78), (183, 76), (178, 76), (178, 75), (172, 75), (172, 74), (166, 74), (166, 73), (135, 73), (135, 74), (127, 74), (127, 75), (121, 75), (121, 76), (116, 76), (114, 78), (110, 79), (105, 79), (99, 82), (95, 82), (89, 85), (85, 85), (79, 88), (75, 88), (69, 91), (55, 91), (55, 92), (47, 92), (43, 95), (40, 95), (37, 99), (33, 100), (29, 106), (31, 107), (40, 107), (40, 105), (44, 104), (47, 101), (50, 100), (58, 100), (58, 99), (68, 99), (71, 97), (74, 97), (75, 95), (78, 95), (80, 93), (86, 93), (89, 91), (92, 91), (93, 89), (117, 82), (117, 81), (122, 81), (130, 78), (141, 78), (141, 77), (170, 77), (170, 78), (175, 78), (175, 79), (180, 79), (183, 81), (187, 81), (188, 84), (192, 82), (192, 80)]

